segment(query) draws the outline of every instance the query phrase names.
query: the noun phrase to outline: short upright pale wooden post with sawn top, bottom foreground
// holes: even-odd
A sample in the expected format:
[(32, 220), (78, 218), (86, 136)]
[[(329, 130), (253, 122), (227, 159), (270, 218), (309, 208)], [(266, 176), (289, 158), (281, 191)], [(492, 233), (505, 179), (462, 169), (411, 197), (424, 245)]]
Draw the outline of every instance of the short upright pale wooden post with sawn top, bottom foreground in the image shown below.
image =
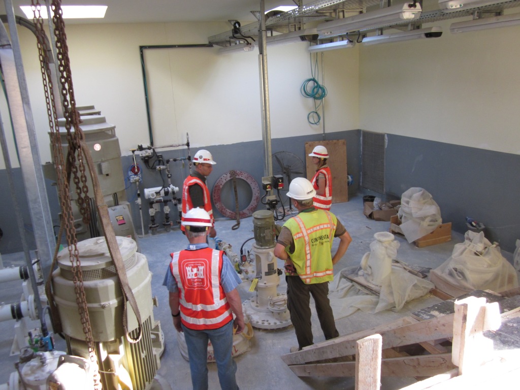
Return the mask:
[(381, 386), (381, 335), (356, 342), (356, 390), (379, 390)]

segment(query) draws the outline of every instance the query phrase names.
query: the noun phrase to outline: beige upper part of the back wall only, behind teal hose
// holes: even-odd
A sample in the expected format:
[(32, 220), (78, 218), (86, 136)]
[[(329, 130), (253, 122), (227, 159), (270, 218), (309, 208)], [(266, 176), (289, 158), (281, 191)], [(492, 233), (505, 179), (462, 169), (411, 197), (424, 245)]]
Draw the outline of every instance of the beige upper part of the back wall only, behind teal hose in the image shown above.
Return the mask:
[[(123, 155), (138, 144), (149, 145), (139, 46), (206, 44), (207, 37), (229, 29), (224, 22), (69, 25), (76, 104), (94, 105), (116, 126)], [(41, 160), (46, 162), (48, 121), (36, 42), (28, 30), (18, 30)], [(320, 125), (307, 122), (314, 110), (313, 100), (300, 93), (304, 80), (311, 77), (307, 46), (268, 48), (272, 138), (321, 134), (323, 123), (326, 132), (359, 127), (356, 48), (326, 53), (327, 112)], [(217, 50), (145, 50), (154, 145), (184, 143), (186, 133), (193, 148), (262, 139), (258, 49), (226, 56), (217, 55)], [(6, 122), (5, 108), (2, 115)]]

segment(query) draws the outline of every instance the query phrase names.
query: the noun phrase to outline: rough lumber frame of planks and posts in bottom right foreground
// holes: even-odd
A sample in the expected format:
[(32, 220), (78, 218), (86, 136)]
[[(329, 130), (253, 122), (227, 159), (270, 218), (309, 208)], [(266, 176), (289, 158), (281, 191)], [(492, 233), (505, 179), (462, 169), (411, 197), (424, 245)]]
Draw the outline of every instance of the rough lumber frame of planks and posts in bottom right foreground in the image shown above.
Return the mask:
[[(422, 384), (416, 383), (419, 386), (411, 386), (410, 390), (430, 388), (430, 385), (456, 377), (459, 387), (453, 388), (468, 388), (461, 381), (462, 370), (469, 373), (478, 367), (478, 371), (489, 356), (495, 353), (501, 356), (502, 353), (487, 349), (490, 344), (483, 340), (485, 323), (494, 324), (489, 329), (495, 331), (488, 333), (497, 334), (501, 340), (509, 337), (511, 342), (518, 344), (511, 345), (510, 349), (520, 347), (515, 334), (498, 334), (502, 329), (507, 332), (508, 321), (513, 321), (511, 329), (514, 332), (520, 321), (520, 296), (506, 296), (474, 291), (463, 301), (463, 297), (459, 297), (457, 302), (433, 305), (395, 322), (311, 345), (281, 358), (298, 376), (355, 376), (359, 390), (379, 388), (380, 376), (432, 377)], [(478, 301), (476, 306), (475, 300)], [(474, 315), (474, 310), (480, 314)], [(476, 318), (479, 320), (475, 325)], [(497, 322), (502, 322), (500, 331), (496, 331)], [(509, 366), (493, 369), (517, 373), (520, 370), (517, 357), (506, 359)], [(463, 380), (471, 377), (464, 375)]]

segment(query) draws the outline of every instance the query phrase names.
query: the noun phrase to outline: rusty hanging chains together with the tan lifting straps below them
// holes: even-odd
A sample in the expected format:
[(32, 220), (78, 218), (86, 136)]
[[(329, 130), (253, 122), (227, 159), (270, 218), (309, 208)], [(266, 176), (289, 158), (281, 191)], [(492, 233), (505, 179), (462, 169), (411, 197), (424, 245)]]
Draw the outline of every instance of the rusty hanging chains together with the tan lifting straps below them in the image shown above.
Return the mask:
[[(61, 96), (63, 98), (63, 116), (65, 119), (65, 128), (67, 131), (68, 141), (68, 153), (67, 158), (63, 158), (63, 152), (61, 148), (61, 137), (59, 134), (58, 119), (56, 113), (56, 103), (54, 101), (54, 86), (50, 80), (50, 68), (47, 54), (49, 48), (47, 46), (47, 40), (45, 38), (45, 32), (43, 29), (43, 19), (41, 17), (41, 5), (38, 0), (31, 0), (31, 5), (34, 15), (34, 24), (36, 27), (37, 36), (37, 47), (41, 63), (42, 79), (45, 91), (45, 101), (47, 105), (47, 115), (49, 119), (49, 128), (51, 132), (51, 144), (55, 156), (55, 167), (57, 173), (57, 185), (59, 191), (60, 205), (62, 209), (62, 223), (60, 226), (60, 233), (58, 237), (61, 237), (63, 230), (66, 233), (69, 258), (72, 266), (74, 291), (76, 294), (76, 303), (78, 305), (78, 311), (80, 314), (83, 331), (85, 333), (85, 341), (88, 345), (89, 358), (95, 363), (97, 367), (96, 347), (92, 336), (92, 328), (90, 327), (90, 319), (88, 316), (87, 302), (85, 297), (85, 291), (83, 288), (83, 277), (81, 271), (81, 262), (79, 251), (77, 250), (77, 238), (75, 236), (75, 228), (73, 226), (73, 215), (70, 198), (70, 187), (71, 181), (75, 186), (75, 193), (77, 195), (77, 204), (80, 207), (80, 212), (83, 217), (85, 224), (89, 223), (90, 218), (90, 199), (88, 197), (88, 186), (86, 177), (86, 166), (90, 173), (90, 178), (94, 188), (94, 198), (96, 200), (97, 211), (100, 216), (100, 221), (105, 232), (106, 243), (114, 262), (116, 271), (118, 273), (120, 287), (124, 295), (123, 301), (123, 328), (125, 336), (128, 342), (137, 343), (142, 336), (142, 321), (137, 307), (132, 289), (129, 287), (128, 278), (124, 269), (123, 259), (119, 251), (119, 245), (115, 239), (112, 225), (110, 223), (110, 217), (108, 214), (108, 206), (105, 204), (103, 194), (100, 190), (99, 181), (94, 169), (94, 162), (92, 156), (88, 151), (85, 143), (83, 131), (80, 128), (80, 115), (76, 110), (76, 103), (74, 99), (74, 89), (72, 86), (72, 77), (70, 69), (70, 61), (68, 56), (67, 36), (64, 30), (64, 22), (61, 11), (61, 1), (53, 0), (51, 7), (54, 9), (53, 22), (54, 22), (54, 35), (56, 37), (56, 48), (57, 48), (57, 59), (58, 59), (58, 71), (59, 71), (59, 82), (61, 85)], [(72, 132), (74, 128), (74, 132)], [(53, 259), (53, 265), (51, 271), (55, 268), (57, 261), (59, 242), (56, 245), (56, 250)], [(51, 278), (47, 279), (46, 294), (50, 303), (53, 317), (57, 319), (53, 324), (58, 326), (61, 330), (61, 324), (59, 323), (59, 315), (57, 313), (56, 304), (53, 301), (51, 293)], [(127, 315), (126, 315), (126, 301), (131, 305), (134, 314), (138, 322), (138, 336), (136, 339), (132, 339), (129, 336), (127, 329)], [(56, 330), (56, 328), (55, 328)], [(94, 388), (100, 389), (101, 383), (99, 382), (99, 372), (96, 369), (94, 373)]]

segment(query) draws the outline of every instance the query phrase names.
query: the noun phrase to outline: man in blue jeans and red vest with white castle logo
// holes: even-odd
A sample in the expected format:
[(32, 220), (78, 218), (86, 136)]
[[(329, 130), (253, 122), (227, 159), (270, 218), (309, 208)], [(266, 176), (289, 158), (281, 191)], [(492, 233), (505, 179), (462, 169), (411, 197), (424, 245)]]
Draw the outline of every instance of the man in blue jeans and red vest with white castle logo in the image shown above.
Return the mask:
[(173, 326), (177, 332), (184, 332), (193, 389), (208, 388), (207, 346), (210, 341), (220, 388), (238, 390), (237, 363), (231, 353), (233, 328), (239, 334), (245, 327), (242, 301), (237, 291), (241, 280), (225, 253), (207, 246), (207, 234), (213, 223), (205, 210), (191, 209), (182, 224), (189, 245), (187, 249), (171, 254), (172, 261), (163, 285), (170, 292)]

